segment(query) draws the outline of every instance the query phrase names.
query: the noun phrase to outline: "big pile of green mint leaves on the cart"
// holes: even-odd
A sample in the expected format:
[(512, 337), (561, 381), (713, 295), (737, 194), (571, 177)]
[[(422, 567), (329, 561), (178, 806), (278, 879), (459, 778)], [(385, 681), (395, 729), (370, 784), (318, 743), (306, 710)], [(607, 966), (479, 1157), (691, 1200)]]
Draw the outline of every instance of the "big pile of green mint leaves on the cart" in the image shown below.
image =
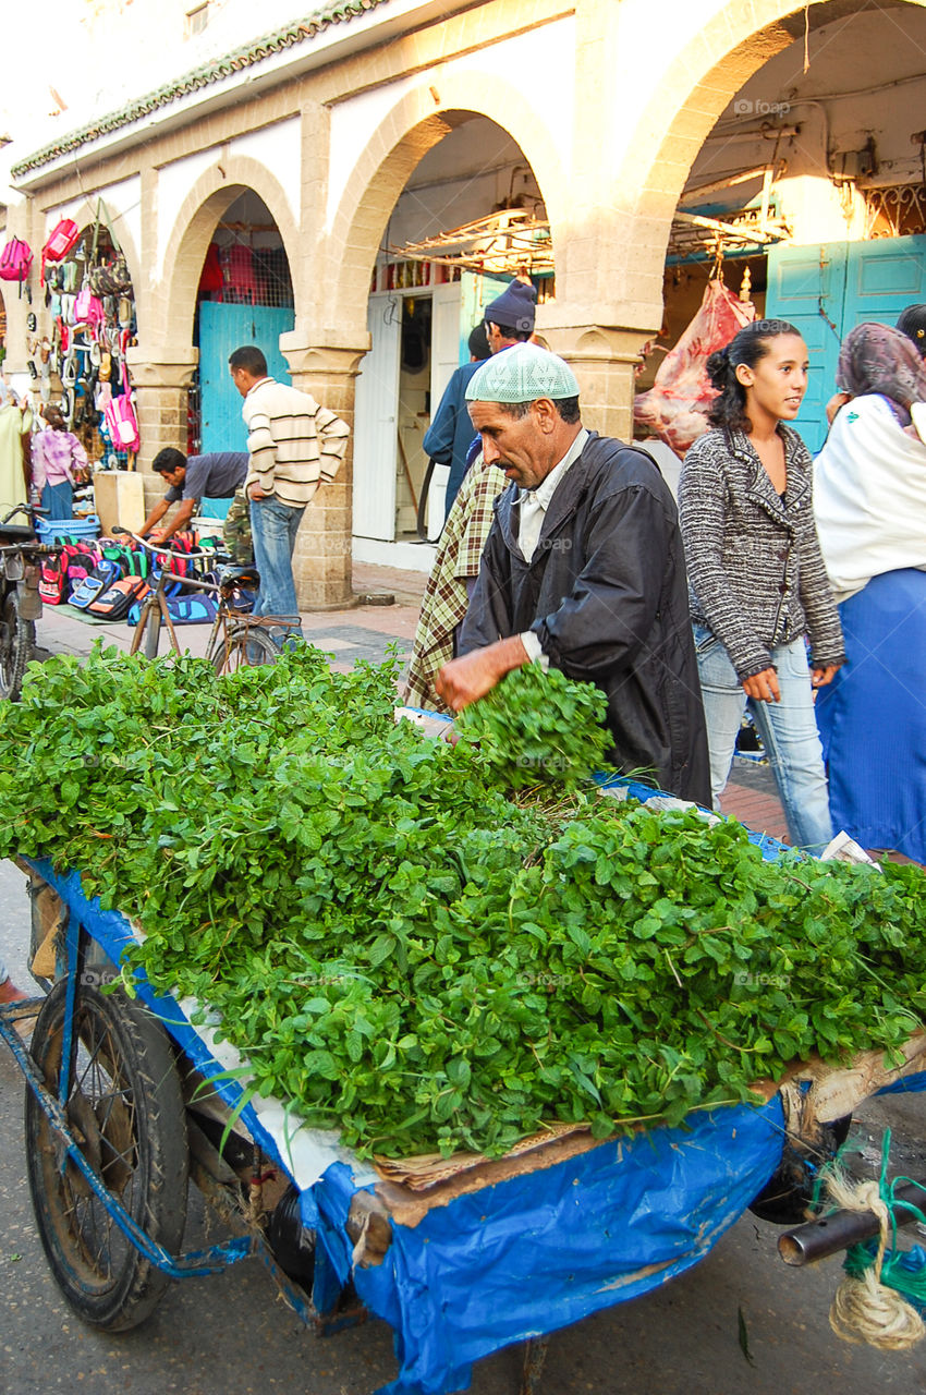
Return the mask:
[(735, 820), (602, 797), (604, 699), (537, 665), (432, 739), (399, 667), (31, 665), (0, 854), (79, 869), (252, 1088), (364, 1155), (678, 1124), (918, 1030), (918, 868), (766, 862)]

